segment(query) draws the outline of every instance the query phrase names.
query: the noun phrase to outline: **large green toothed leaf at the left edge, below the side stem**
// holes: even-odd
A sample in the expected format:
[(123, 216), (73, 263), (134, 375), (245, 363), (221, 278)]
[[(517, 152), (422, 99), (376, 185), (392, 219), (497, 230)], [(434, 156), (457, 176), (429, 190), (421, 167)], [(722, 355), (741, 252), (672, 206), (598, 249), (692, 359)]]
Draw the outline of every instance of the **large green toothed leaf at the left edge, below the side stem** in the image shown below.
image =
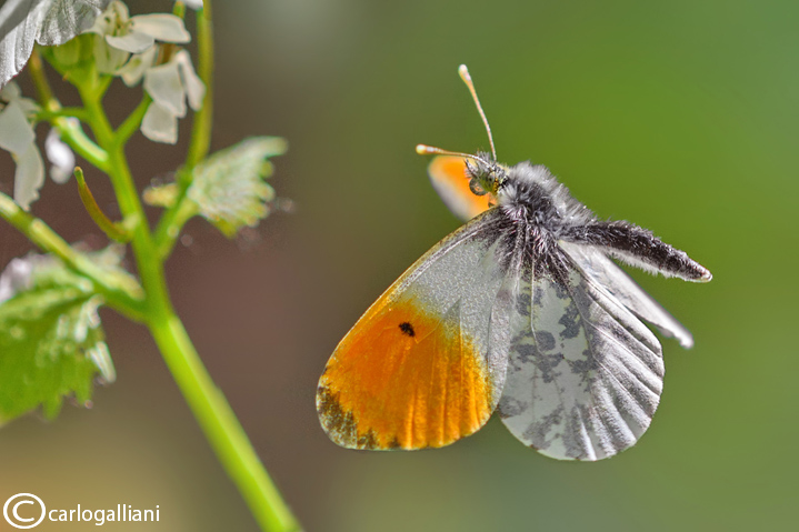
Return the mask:
[[(90, 255), (114, 267), (113, 248)], [(91, 282), (50, 255), (14, 259), (0, 275), (0, 423), (39, 406), (54, 418), (64, 397), (83, 404), (93, 382), (114, 380)]]

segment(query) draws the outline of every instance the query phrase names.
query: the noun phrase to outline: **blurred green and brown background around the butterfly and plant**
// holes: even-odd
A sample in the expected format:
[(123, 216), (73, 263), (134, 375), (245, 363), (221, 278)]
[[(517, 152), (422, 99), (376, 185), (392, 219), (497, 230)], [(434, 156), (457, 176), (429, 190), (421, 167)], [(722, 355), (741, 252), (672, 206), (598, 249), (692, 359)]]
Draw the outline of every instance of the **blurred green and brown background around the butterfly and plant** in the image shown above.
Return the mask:
[[(217, 1), (214, 18), (213, 144), (286, 137), (273, 183), (298, 208), (233, 242), (191, 222), (169, 278), (307, 530), (796, 530), (799, 3), (239, 0)], [(413, 145), (487, 148), (461, 62), (501, 161), (549, 165), (599, 215), (650, 228), (715, 274), (698, 285), (633, 273), (696, 348), (663, 342), (660, 409), (617, 458), (557, 462), (497, 420), (442, 450), (353, 452), (317, 422), (316, 383), (337, 342), (459, 224)], [(110, 98), (123, 117), (138, 92)], [(140, 185), (181, 153), (138, 135)], [(114, 213), (109, 184), (88, 179)], [(49, 183), (33, 211), (69, 240), (103, 243), (73, 182)], [(6, 225), (0, 238), (3, 264), (29, 249)], [(147, 530), (256, 530), (147, 332), (110, 311), (103, 320), (118, 382), (91, 410), (3, 428), (0, 499), (159, 504)]]

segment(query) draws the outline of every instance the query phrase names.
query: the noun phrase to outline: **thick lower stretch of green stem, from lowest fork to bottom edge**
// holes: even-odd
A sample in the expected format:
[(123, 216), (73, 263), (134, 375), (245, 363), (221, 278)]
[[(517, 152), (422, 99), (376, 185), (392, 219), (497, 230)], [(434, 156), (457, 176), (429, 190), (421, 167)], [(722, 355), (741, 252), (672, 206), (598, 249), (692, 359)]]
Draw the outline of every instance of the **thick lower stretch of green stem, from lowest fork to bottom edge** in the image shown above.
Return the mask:
[(183, 324), (167, 312), (150, 322), (150, 331), (206, 436), (261, 529), (299, 531), (297, 520), (282, 502), (230, 404), (203, 368)]

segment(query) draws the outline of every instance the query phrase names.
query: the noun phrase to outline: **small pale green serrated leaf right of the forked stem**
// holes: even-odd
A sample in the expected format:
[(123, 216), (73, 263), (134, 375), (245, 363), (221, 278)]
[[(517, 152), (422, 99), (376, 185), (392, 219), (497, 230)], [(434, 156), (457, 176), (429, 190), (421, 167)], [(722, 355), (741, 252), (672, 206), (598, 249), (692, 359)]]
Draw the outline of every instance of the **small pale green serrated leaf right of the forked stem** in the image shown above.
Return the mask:
[(274, 190), (263, 181), (272, 173), (267, 159), (286, 148), (283, 139), (254, 137), (218, 151), (194, 169), (188, 198), (228, 238), (242, 227), (257, 225), (274, 199)]

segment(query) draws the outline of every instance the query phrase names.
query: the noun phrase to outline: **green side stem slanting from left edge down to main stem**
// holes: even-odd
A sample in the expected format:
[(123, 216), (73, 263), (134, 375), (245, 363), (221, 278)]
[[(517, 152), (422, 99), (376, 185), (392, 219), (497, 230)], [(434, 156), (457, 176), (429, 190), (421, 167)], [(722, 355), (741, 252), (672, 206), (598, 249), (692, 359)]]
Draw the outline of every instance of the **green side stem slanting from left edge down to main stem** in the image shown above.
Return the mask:
[(98, 267), (64, 242), (47, 223), (24, 212), (2, 192), (0, 192), (0, 217), (42, 251), (54, 254), (72, 271), (92, 281), (94, 289), (112, 308), (134, 321), (144, 321), (143, 291), (133, 278), (113, 274)]

